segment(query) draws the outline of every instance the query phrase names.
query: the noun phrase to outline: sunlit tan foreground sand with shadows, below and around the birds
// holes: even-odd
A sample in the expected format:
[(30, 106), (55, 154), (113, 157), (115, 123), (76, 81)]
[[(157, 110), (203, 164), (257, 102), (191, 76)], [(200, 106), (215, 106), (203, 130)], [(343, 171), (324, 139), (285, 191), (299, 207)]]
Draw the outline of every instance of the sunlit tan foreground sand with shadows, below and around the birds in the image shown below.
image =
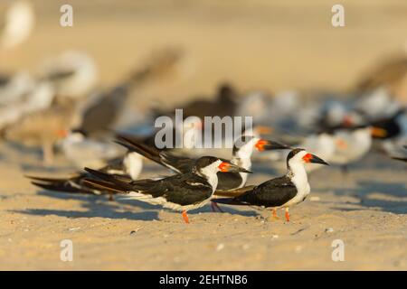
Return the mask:
[[(17, 165), (10, 154), (0, 165), (1, 269), (407, 269), (407, 170), (381, 155), (347, 176), (334, 167), (313, 173), (313, 199), (294, 207), (289, 223), (283, 211), (276, 220), (268, 210), (206, 206), (185, 225), (179, 213), (135, 200), (39, 191), (22, 175), (40, 173), (38, 160), (24, 154)], [(156, 168), (147, 164), (143, 177)], [(267, 163), (254, 172), (250, 183), (273, 176)], [(73, 262), (60, 259), (62, 239), (73, 242)], [(331, 257), (336, 239), (343, 262)]]

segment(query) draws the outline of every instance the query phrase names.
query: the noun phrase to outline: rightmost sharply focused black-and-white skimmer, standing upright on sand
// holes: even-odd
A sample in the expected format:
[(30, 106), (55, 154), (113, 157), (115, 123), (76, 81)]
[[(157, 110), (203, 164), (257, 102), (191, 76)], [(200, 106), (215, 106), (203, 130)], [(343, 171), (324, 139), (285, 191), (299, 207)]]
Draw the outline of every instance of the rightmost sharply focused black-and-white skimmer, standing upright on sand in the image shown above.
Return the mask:
[(234, 198), (213, 201), (230, 205), (272, 208), (274, 217), (277, 217), (277, 209), (284, 208), (286, 219), (289, 221), (289, 207), (306, 200), (311, 191), (305, 169), (306, 163), (328, 164), (317, 155), (296, 148), (287, 157), (287, 173), (284, 176), (263, 182), (258, 186), (238, 189), (234, 193), (240, 193), (240, 195)]

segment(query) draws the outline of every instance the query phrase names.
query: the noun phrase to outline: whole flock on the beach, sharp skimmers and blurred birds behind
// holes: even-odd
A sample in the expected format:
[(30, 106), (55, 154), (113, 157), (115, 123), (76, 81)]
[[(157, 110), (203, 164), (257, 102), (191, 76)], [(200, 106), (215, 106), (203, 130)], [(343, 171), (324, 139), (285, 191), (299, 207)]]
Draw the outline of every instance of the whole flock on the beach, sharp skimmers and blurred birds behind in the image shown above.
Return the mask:
[[(141, 121), (130, 120), (126, 132), (119, 132), (118, 119), (125, 111), (136, 114), (127, 105), (129, 98), (140, 87), (171, 74), (181, 56), (179, 51), (160, 51), (103, 90), (95, 89), (95, 62), (81, 51), (44, 61), (34, 74), (2, 75), (1, 137), (41, 147), (46, 164), (53, 163), (58, 152), (85, 168), (68, 178), (27, 176), (40, 188), (110, 199), (125, 195), (181, 211), (185, 223), (188, 210), (207, 203), (221, 211), (219, 204), (270, 208), (274, 217), (283, 209), (289, 221), (289, 208), (310, 192), (309, 172), (328, 163), (345, 172), (372, 149), (407, 162), (406, 107), (394, 98), (389, 78), (383, 77), (407, 77), (405, 59), (376, 72), (379, 77), (366, 79), (352, 96), (319, 93), (305, 98), (297, 91), (284, 91), (270, 97), (265, 91), (238, 93), (230, 83), (222, 83), (214, 96), (176, 107), (151, 107)], [(184, 147), (158, 147), (154, 119), (175, 117), (175, 108), (183, 109), (184, 121), (168, 127), (168, 134), (182, 138)], [(232, 150), (196, 148), (196, 135), (204, 138), (208, 128), (204, 117), (215, 116), (252, 117), (253, 126), (233, 139)], [(140, 179), (146, 159), (173, 174)], [(285, 170), (283, 176), (247, 185), (252, 162), (264, 160)]]

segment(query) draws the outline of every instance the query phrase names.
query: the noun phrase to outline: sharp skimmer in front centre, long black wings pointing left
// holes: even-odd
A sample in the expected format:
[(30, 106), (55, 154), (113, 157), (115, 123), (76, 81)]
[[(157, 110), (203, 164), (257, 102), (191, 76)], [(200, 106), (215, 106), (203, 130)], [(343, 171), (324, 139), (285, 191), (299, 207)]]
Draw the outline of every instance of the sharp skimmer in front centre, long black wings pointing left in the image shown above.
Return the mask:
[(189, 223), (188, 210), (201, 208), (212, 199), (218, 185), (217, 172), (250, 172), (213, 156), (203, 156), (196, 160), (191, 172), (161, 180), (126, 182), (109, 173), (88, 168), (86, 171), (99, 179), (85, 180), (95, 188), (124, 193), (132, 199), (182, 211), (185, 223)]

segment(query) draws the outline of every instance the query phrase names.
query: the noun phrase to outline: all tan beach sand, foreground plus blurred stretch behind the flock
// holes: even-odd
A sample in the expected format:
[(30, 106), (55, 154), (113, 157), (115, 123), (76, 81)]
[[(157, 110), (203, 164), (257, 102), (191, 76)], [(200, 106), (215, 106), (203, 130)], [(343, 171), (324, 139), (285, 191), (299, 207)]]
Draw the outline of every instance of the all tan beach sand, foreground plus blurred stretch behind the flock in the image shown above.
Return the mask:
[[(2, 52), (2, 71), (33, 70), (74, 48), (95, 58), (100, 85), (109, 87), (151, 51), (185, 52), (179, 75), (138, 91), (137, 108), (210, 94), (222, 80), (241, 90), (343, 91), (407, 51), (402, 0), (341, 1), (343, 28), (331, 25), (337, 1), (71, 0), (72, 28), (59, 25), (67, 1), (33, 3), (33, 35)], [(38, 191), (23, 173), (39, 157), (9, 145), (2, 144), (0, 161), (0, 269), (407, 269), (406, 166), (378, 155), (348, 176), (336, 168), (313, 174), (311, 196), (319, 200), (294, 208), (290, 223), (264, 221), (266, 211), (205, 207), (191, 212), (189, 226), (179, 214), (136, 201)], [(376, 169), (367, 168), (372, 163)], [(250, 183), (270, 179), (264, 164), (254, 171)], [(156, 172), (149, 164), (142, 176)], [(65, 238), (73, 241), (73, 262), (60, 260)], [(331, 259), (338, 238), (345, 262)]]

